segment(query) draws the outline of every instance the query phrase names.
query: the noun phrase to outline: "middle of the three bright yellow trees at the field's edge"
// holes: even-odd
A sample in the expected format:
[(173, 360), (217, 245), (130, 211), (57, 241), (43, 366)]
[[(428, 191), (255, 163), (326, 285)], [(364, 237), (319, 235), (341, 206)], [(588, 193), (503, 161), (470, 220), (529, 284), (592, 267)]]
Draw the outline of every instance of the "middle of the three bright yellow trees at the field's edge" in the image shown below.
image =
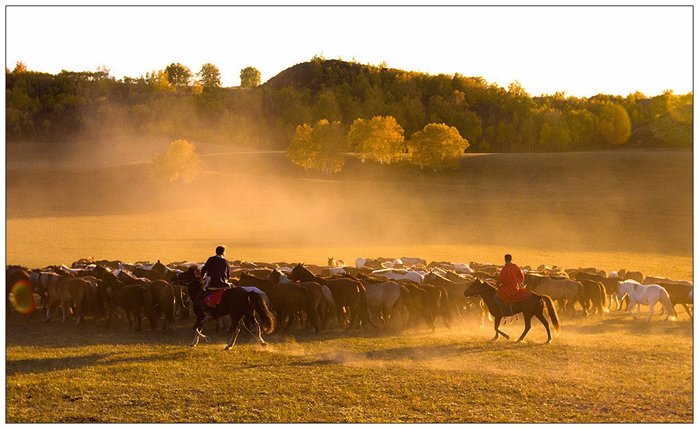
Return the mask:
[(400, 161), (405, 150), (403, 128), (392, 116), (375, 116), (370, 120), (356, 119), (349, 127), (350, 147), (361, 161), (374, 159), (380, 163)]

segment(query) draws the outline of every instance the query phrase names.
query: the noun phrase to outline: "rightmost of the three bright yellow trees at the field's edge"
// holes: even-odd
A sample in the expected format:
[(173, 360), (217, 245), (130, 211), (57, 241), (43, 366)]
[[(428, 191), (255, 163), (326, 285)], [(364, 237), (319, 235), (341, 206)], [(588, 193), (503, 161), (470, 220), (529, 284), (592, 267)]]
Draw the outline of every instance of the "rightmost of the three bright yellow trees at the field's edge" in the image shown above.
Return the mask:
[(427, 124), (422, 131), (413, 134), (408, 142), (410, 161), (433, 170), (458, 168), (459, 157), (468, 148), (454, 126)]

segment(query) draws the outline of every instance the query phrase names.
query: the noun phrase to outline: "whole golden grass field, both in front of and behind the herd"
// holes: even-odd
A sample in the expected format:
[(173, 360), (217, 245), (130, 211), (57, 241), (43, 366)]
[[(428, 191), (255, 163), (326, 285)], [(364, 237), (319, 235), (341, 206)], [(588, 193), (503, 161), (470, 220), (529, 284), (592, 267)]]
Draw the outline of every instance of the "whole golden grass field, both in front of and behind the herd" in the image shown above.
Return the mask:
[[(225, 244), (231, 260), (510, 253), (521, 266), (693, 279), (691, 150), (469, 155), (445, 173), (349, 159), (327, 178), (283, 153), (208, 147), (192, 185), (164, 188), (148, 177), (152, 153), (137, 149), (8, 152), (6, 263), (203, 261)], [(490, 324), (470, 323), (272, 335), (266, 350), (243, 337), (228, 352), (223, 333), (189, 348), (192, 320), (135, 333), (40, 319), (6, 319), (8, 423), (693, 421), (684, 310), (670, 327), (618, 312), (563, 319), (548, 346), (535, 321), (525, 344), (489, 342)], [(505, 331), (519, 333), (514, 324)]]

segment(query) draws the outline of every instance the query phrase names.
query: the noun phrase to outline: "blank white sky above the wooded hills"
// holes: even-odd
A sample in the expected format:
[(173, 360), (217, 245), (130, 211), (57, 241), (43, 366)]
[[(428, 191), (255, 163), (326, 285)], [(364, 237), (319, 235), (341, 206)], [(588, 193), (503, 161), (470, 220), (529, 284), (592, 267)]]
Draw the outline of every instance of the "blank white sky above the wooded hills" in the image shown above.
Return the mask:
[(8, 6), (6, 67), (138, 78), (206, 62), (224, 86), (326, 59), (482, 76), (532, 96), (693, 91), (693, 9), (675, 7)]

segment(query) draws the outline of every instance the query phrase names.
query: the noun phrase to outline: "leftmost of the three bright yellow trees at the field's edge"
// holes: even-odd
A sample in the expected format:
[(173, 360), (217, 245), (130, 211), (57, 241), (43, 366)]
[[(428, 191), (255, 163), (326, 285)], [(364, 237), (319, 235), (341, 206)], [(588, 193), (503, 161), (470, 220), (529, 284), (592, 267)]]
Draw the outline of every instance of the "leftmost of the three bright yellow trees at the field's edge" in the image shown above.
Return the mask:
[(343, 125), (321, 119), (312, 127), (307, 124), (296, 127), (294, 139), (287, 149), (287, 157), (303, 168), (331, 175), (345, 165), (344, 149)]

